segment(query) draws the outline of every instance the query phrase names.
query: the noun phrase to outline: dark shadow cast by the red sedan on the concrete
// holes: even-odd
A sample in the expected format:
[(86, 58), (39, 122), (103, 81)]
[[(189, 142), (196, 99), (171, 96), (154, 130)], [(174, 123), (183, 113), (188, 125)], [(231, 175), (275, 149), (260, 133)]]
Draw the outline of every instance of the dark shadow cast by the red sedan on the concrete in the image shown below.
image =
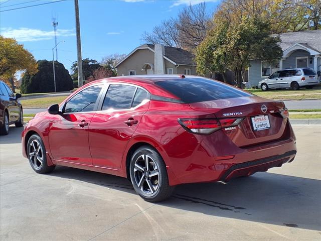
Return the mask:
[[(121, 177), (69, 167), (49, 175), (135, 193)], [(221, 183), (185, 184), (156, 205), (220, 217), (321, 230), (321, 181), (273, 173), (256, 173)]]

